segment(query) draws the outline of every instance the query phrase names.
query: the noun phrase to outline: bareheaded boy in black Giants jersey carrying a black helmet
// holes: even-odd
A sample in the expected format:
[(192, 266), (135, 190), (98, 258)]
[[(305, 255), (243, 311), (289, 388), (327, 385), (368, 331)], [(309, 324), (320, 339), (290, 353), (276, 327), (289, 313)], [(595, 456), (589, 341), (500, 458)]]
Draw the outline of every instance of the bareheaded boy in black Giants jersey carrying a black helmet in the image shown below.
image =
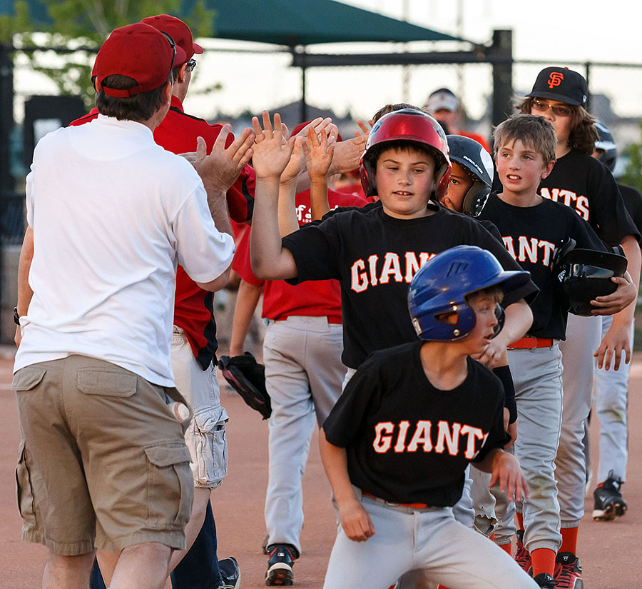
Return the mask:
[(554, 460), (561, 427), (559, 341), (565, 338), (568, 307), (555, 288), (550, 264), (565, 238), (574, 238), (579, 248), (603, 250), (603, 245), (571, 208), (537, 192), (555, 163), (557, 141), (548, 121), (529, 114), (511, 116), (497, 127), (494, 139), (504, 191), (489, 196), (481, 218), (496, 224), (506, 249), (540, 289), (531, 305), (534, 321), (528, 336), (508, 346), (520, 423), (515, 453), (531, 488), (523, 515), (518, 514), (525, 532), (519, 535), (516, 559), (532, 570), (541, 587), (553, 588), (556, 565), (564, 558), (560, 553), (556, 562), (561, 534)]

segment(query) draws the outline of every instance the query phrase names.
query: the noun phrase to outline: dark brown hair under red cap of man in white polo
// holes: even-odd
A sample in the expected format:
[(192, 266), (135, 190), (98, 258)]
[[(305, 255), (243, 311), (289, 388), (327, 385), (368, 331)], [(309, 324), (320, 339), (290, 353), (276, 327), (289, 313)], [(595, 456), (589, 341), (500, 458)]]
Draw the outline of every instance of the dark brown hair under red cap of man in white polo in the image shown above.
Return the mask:
[[(96, 93), (96, 108), (100, 114), (113, 116), (118, 121), (147, 121), (152, 115), (163, 106), (163, 93), (165, 86), (171, 84), (171, 74), (168, 81), (156, 90), (129, 96), (128, 98), (116, 98), (107, 96), (101, 89)], [(136, 86), (136, 80), (128, 76), (114, 74), (103, 80), (103, 85), (108, 88), (126, 90)]]

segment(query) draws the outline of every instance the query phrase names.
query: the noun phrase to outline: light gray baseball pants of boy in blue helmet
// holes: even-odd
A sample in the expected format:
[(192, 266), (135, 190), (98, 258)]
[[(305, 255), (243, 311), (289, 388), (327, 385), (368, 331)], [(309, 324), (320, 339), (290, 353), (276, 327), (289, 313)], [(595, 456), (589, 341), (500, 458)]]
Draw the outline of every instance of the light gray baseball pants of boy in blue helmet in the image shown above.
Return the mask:
[(324, 589), (387, 589), (407, 571), (429, 583), (422, 586), (538, 587), (504, 550), (457, 522), (451, 508), (417, 510), (370, 497), (360, 500), (375, 533), (366, 542), (354, 542), (339, 526)]

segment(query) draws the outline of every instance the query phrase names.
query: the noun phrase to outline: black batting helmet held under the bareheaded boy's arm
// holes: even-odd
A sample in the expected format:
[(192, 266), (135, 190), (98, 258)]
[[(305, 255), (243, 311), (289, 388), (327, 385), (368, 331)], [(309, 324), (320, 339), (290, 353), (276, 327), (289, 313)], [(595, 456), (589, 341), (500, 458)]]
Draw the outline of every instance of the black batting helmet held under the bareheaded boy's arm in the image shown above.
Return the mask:
[(611, 278), (624, 276), (626, 258), (607, 251), (571, 249), (556, 256), (552, 270), (568, 299), (569, 313), (590, 317), (596, 309), (591, 301), (616, 290)]

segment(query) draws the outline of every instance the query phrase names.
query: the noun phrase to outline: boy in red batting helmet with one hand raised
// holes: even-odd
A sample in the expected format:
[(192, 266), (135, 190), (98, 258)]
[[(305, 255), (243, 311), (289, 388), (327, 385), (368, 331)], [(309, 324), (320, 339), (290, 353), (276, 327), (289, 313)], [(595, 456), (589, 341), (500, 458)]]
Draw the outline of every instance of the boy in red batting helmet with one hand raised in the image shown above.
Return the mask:
[[(450, 162), (444, 132), (422, 111), (403, 109), (374, 124), (361, 172), (366, 193), (378, 193), (381, 206), (337, 212), (283, 241), (277, 195), (292, 145), (282, 144), (277, 115), (275, 131), (267, 113), (264, 129), (257, 119), (253, 125), (258, 133), (253, 150), (258, 192), (250, 247), (253, 271), (258, 278), (294, 283), (339, 280), (342, 360), (352, 371), (372, 351), (416, 340), (404, 301), (412, 276), (435, 253), (467, 243), (488, 249), (507, 269), (519, 268), (477, 221), (431, 201), (446, 189)], [(481, 361), (494, 366), (506, 343), (526, 332), (532, 317), (524, 297), (534, 293), (531, 282), (511, 293), (504, 331)]]

